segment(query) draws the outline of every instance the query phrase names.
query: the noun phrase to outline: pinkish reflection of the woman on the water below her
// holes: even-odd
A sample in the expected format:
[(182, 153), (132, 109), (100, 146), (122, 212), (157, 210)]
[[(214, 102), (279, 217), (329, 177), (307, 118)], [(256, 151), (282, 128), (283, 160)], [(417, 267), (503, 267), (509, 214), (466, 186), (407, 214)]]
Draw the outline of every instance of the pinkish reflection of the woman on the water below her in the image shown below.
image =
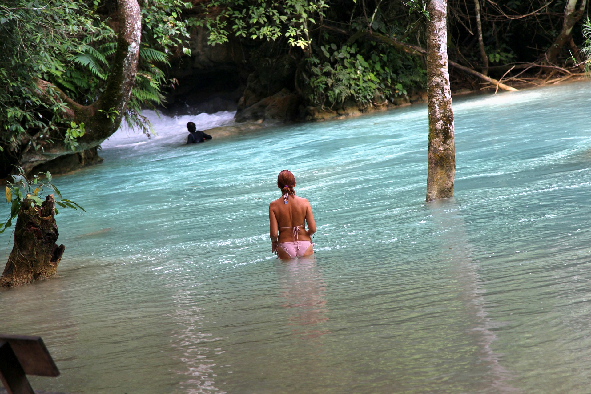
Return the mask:
[(330, 331), (316, 327), (326, 317), (326, 285), (316, 265), (316, 256), (278, 261), (277, 273), (282, 288), (282, 307), (292, 308), (287, 325), (303, 339), (319, 338)]

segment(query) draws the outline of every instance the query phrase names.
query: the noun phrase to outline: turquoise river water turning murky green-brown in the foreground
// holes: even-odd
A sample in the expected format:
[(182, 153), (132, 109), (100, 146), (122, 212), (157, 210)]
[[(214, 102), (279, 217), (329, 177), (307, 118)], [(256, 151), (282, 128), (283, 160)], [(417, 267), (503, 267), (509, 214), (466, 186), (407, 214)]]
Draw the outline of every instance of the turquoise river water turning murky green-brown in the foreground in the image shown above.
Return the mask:
[[(59, 275), (0, 291), (0, 331), (44, 338), (54, 391), (588, 393), (590, 104), (590, 83), (456, 99), (455, 197), (431, 204), (424, 105), (196, 146), (190, 116), (155, 119), (56, 177), (87, 213), (57, 216)], [(271, 253), (284, 168), (311, 259)]]

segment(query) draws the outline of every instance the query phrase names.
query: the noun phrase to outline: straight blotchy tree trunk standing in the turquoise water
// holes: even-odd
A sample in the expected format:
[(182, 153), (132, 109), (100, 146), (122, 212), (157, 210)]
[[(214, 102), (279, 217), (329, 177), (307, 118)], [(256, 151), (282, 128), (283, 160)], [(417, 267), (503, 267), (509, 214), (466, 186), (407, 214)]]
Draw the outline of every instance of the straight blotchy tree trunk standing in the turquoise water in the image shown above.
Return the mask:
[(456, 174), (452, 92), (447, 69), (447, 0), (431, 0), (427, 6), (427, 107), (429, 149), (427, 201), (453, 197)]

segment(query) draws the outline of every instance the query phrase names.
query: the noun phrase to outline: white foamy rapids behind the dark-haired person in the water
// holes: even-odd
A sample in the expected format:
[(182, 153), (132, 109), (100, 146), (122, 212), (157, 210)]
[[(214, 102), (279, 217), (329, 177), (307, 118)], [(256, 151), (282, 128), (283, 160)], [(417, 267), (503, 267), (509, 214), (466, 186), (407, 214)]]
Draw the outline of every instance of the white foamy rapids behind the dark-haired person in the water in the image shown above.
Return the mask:
[[(144, 111), (144, 116), (152, 122), (154, 135), (148, 138), (142, 132), (130, 129), (125, 122), (109, 139), (101, 144), (102, 148), (150, 149), (162, 145), (179, 145), (187, 142), (187, 122), (195, 123), (197, 130), (211, 129), (234, 123), (236, 112), (219, 111), (200, 113), (199, 115), (166, 116), (152, 110)], [(141, 148), (140, 148), (141, 147)]]

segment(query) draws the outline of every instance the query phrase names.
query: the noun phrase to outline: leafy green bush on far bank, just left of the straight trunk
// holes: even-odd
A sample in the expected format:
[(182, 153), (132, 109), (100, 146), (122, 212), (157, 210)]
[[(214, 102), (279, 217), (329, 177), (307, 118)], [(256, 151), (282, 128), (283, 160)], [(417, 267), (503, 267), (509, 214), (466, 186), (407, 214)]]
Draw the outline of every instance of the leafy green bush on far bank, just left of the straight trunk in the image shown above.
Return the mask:
[(425, 71), (418, 61), (391, 47), (321, 45), (320, 57), (309, 59), (308, 98), (321, 106), (348, 100), (363, 106), (382, 105), (406, 96), (407, 89), (424, 86)]

